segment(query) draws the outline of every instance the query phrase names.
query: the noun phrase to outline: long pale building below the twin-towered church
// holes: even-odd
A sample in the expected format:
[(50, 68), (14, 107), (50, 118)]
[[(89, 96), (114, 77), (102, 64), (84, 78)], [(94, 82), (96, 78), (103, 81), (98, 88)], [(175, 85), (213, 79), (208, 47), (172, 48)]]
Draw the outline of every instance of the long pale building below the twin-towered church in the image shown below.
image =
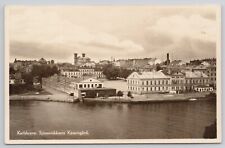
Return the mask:
[(61, 70), (61, 74), (69, 78), (94, 77), (98, 79), (98, 78), (104, 77), (104, 74), (102, 71), (95, 70), (93, 68)]

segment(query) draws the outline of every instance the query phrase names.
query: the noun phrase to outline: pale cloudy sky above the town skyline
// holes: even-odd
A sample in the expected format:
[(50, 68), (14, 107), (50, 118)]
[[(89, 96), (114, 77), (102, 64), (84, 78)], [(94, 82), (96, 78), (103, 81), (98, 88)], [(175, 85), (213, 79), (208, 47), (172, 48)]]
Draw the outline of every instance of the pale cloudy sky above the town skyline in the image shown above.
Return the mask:
[[(218, 17), (208, 6), (9, 6), (10, 61), (216, 57)], [(7, 39), (6, 39), (7, 40)]]

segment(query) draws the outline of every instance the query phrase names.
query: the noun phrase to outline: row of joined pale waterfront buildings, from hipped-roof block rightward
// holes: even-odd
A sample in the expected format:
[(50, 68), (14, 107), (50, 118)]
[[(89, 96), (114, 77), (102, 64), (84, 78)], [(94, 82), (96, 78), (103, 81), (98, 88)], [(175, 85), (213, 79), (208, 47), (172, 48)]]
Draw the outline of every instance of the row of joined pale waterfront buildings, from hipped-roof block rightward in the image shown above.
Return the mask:
[(127, 78), (128, 91), (137, 94), (193, 91), (196, 86), (209, 86), (209, 77), (200, 71), (165, 74), (162, 71), (133, 72)]

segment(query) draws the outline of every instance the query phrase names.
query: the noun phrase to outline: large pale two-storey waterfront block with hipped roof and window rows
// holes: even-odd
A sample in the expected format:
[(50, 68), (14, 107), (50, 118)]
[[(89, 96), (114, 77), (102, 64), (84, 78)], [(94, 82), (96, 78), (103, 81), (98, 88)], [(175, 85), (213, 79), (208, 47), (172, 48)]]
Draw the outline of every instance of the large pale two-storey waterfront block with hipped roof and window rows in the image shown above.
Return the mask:
[(128, 91), (138, 94), (170, 91), (170, 77), (162, 71), (133, 72), (127, 84)]

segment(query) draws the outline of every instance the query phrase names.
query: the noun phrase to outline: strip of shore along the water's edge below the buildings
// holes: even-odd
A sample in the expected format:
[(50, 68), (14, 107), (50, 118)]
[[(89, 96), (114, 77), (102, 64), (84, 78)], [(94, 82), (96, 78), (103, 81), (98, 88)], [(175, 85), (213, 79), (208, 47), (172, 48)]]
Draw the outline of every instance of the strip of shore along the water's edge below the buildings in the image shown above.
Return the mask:
[(209, 93), (187, 93), (187, 94), (147, 94), (137, 95), (133, 94), (134, 98), (127, 96), (123, 97), (109, 97), (109, 98), (75, 98), (65, 92), (53, 88), (43, 89), (51, 94), (34, 94), (34, 95), (11, 95), (9, 96), (10, 101), (53, 101), (53, 102), (97, 102), (97, 103), (151, 103), (151, 102), (179, 102), (179, 101), (195, 101), (195, 100), (206, 100), (214, 99), (208, 97)]

